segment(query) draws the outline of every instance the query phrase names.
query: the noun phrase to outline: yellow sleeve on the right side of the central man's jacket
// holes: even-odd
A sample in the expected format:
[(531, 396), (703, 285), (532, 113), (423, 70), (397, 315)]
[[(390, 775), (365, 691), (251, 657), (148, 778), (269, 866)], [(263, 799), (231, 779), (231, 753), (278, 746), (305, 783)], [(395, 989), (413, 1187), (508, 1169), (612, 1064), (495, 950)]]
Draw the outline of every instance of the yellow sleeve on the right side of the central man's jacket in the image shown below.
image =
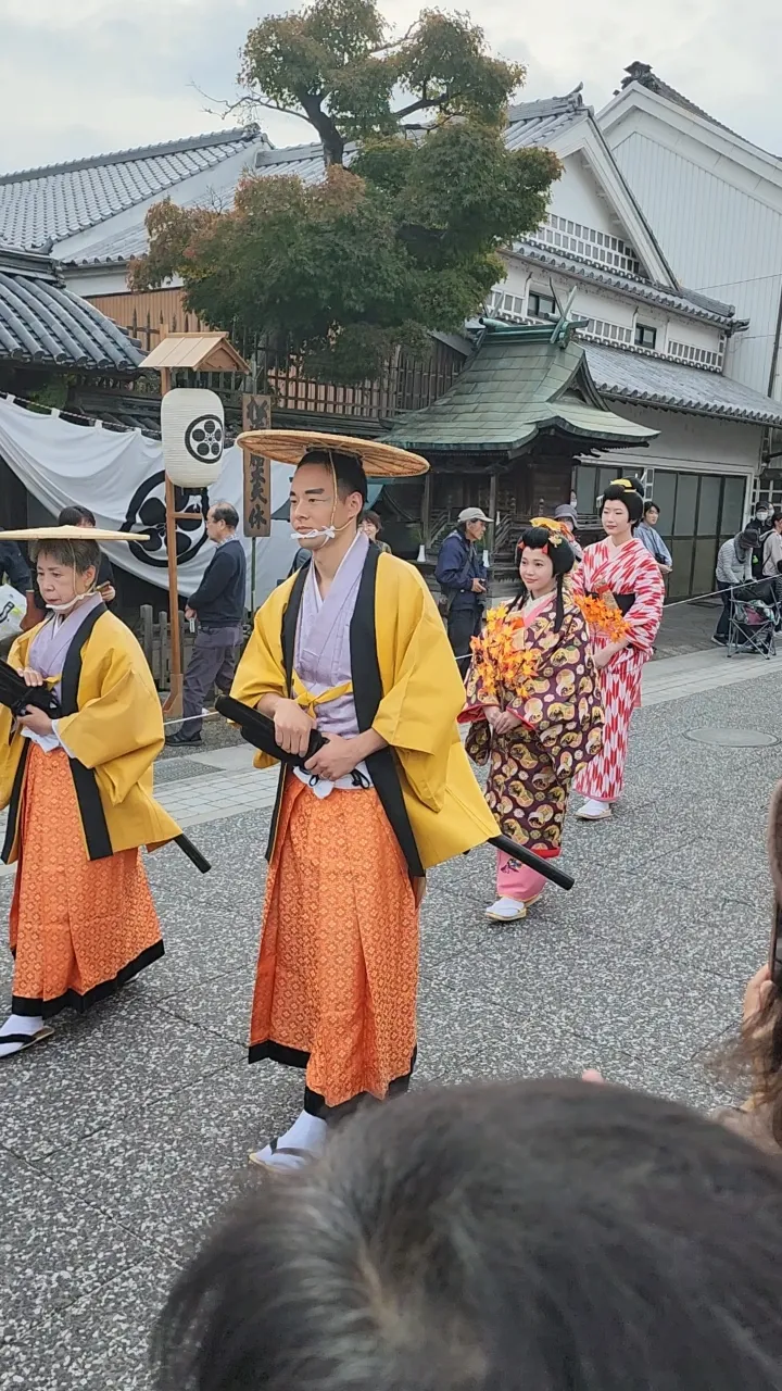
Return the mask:
[[(451, 748), (459, 740), (455, 721), (465, 704), (465, 687), (437, 605), (417, 572), (405, 566), (408, 574), (398, 573), (394, 615), (388, 590), (380, 583), (380, 565), (378, 655), (383, 668), (384, 654), (391, 647), (394, 669), (390, 680), (383, 672), (385, 696), (373, 729), (395, 750), (415, 796), (440, 811)], [(394, 618), (395, 638), (387, 633)]]

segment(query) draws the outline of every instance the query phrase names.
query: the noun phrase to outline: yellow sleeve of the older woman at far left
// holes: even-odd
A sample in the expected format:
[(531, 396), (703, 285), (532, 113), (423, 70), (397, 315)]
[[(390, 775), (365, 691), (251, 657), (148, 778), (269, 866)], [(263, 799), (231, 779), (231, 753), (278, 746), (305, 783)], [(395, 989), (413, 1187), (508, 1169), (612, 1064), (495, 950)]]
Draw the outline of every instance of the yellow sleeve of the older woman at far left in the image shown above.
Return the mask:
[(160, 700), (141, 648), (139, 657), (141, 662), (134, 662), (129, 645), (110, 647), (103, 654), (103, 670), (93, 676), (85, 654), (82, 682), (92, 686), (95, 680), (99, 694), (75, 715), (57, 721), (64, 747), (85, 768), (96, 769), (113, 805), (149, 773), (164, 746)]

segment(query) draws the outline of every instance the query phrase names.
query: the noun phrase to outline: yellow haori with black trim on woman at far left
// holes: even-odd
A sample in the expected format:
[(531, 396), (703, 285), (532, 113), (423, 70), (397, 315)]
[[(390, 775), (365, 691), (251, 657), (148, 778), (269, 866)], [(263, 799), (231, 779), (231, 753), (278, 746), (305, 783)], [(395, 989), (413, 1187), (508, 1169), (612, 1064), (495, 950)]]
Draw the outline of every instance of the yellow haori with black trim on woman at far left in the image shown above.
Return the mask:
[[(38, 627), (14, 643), (8, 662), (28, 665)], [(146, 658), (118, 618), (93, 609), (75, 634), (63, 668), (60, 737), (72, 754), (85, 849), (90, 860), (118, 850), (149, 850), (181, 835), (152, 796), (153, 764), (164, 746), (163, 712)], [(8, 807), (3, 860), (18, 858), (18, 812), (31, 740), (0, 705), (0, 808)]]

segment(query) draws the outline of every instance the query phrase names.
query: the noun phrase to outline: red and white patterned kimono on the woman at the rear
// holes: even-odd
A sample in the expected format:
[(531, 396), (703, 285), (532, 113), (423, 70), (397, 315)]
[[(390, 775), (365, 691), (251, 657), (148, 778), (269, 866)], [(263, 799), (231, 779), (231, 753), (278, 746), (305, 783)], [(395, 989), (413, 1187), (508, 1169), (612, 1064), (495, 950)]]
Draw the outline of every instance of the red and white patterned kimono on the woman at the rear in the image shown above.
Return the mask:
[[(641, 702), (641, 672), (653, 654), (662, 619), (665, 586), (657, 561), (635, 537), (622, 547), (615, 547), (611, 540), (587, 545), (583, 565), (573, 572), (572, 586), (576, 594), (593, 594), (605, 586), (615, 595), (635, 594), (633, 605), (625, 613), (630, 641), (600, 672), (605, 711), (603, 750), (573, 783), (584, 797), (618, 801), (625, 782), (630, 719)], [(591, 638), (596, 651), (608, 645), (604, 633), (593, 632)]]

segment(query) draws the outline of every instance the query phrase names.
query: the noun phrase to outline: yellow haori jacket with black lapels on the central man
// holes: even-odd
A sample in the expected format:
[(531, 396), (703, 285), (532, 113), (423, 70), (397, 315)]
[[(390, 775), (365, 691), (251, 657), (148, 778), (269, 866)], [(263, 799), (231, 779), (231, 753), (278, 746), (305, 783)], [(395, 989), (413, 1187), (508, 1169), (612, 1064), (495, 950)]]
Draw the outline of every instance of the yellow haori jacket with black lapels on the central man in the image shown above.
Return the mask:
[[(308, 570), (274, 590), (256, 613), (231, 691), (245, 705), (292, 691)], [(498, 835), (456, 729), (465, 687), (442, 619), (419, 572), (376, 548), (367, 554), (351, 619), (351, 668), (359, 729), (374, 729), (390, 746), (367, 765), (410, 874)], [(259, 753), (255, 764), (269, 768), (273, 761)], [(269, 855), (276, 828), (277, 814)]]

